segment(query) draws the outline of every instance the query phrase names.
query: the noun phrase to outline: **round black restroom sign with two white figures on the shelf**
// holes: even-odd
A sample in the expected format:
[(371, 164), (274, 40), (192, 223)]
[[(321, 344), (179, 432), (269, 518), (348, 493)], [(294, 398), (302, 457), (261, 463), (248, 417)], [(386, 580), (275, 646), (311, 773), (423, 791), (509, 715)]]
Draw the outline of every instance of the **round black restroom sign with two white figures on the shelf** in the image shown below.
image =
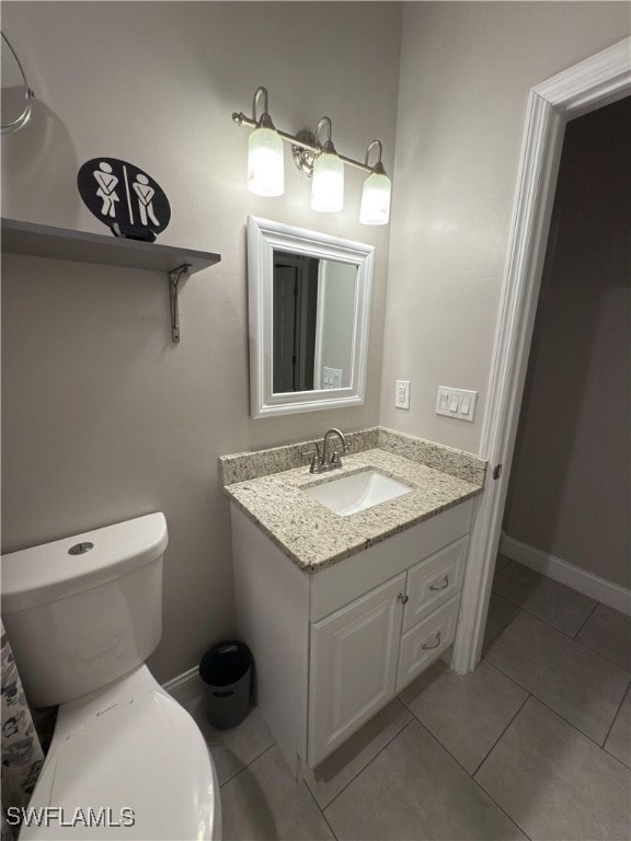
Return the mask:
[(92, 158), (79, 170), (77, 186), (91, 212), (116, 237), (153, 242), (171, 219), (164, 191), (134, 163)]

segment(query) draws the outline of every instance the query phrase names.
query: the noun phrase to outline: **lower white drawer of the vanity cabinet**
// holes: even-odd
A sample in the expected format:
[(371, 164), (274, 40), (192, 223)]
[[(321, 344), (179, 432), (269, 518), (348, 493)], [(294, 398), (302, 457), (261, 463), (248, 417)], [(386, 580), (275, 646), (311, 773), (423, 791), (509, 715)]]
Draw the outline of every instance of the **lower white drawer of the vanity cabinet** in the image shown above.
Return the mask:
[(397, 692), (406, 687), (431, 663), (448, 648), (456, 636), (460, 596), (415, 625), (401, 637), (399, 667), (397, 670)]

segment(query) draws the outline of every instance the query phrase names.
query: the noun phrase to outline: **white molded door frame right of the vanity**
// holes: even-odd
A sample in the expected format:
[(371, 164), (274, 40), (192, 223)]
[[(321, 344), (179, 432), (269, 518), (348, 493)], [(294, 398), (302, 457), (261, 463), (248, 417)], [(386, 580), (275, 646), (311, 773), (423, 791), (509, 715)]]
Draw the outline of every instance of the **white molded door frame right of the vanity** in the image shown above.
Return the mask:
[(451, 665), (460, 675), (472, 671), (482, 653), (565, 125), (631, 93), (630, 59), (631, 38), (624, 38), (529, 93), (481, 433), (480, 453), (490, 470), (473, 516), (454, 644)]

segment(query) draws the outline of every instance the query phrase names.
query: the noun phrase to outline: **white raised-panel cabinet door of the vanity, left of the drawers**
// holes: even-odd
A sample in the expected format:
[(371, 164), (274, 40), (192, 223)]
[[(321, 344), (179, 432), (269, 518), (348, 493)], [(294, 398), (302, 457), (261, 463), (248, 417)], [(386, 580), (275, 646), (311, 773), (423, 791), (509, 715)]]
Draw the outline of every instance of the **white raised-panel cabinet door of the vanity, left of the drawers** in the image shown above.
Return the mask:
[(309, 765), (394, 695), (404, 589), (403, 573), (311, 625)]

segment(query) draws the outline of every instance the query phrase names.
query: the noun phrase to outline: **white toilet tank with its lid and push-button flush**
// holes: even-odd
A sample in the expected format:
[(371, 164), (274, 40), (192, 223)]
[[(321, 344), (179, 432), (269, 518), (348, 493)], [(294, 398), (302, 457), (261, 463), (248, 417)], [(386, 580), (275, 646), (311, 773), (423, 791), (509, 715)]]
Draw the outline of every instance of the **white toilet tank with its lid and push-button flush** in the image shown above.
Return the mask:
[(2, 555), (2, 619), (34, 706), (142, 664), (162, 634), (163, 514)]

